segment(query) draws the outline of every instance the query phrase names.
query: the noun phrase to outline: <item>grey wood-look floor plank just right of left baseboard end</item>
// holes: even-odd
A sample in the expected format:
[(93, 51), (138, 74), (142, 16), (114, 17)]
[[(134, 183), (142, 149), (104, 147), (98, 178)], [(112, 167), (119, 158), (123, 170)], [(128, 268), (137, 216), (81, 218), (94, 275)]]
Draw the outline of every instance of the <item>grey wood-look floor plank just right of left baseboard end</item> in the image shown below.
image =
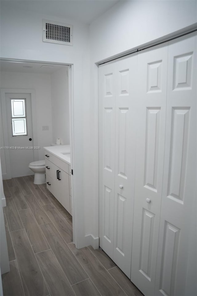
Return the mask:
[(6, 204), (7, 206), (4, 207), (4, 211), (10, 231), (15, 231), (24, 228), (21, 219), (18, 215), (18, 211), (14, 204), (13, 198), (7, 199)]

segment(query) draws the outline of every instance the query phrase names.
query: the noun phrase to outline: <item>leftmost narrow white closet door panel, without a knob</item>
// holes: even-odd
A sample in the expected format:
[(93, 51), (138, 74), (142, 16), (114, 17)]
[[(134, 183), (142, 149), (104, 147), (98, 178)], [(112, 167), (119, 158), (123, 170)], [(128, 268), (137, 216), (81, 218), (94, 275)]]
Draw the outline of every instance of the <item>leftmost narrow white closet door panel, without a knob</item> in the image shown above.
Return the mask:
[(99, 243), (113, 258), (115, 64), (99, 66)]

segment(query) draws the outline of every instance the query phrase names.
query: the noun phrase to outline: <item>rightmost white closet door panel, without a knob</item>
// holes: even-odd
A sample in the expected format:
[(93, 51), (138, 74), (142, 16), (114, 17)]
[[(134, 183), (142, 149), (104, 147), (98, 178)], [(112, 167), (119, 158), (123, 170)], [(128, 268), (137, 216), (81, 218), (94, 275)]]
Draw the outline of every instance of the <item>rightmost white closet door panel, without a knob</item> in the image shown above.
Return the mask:
[[(188, 295), (189, 253), (196, 260), (196, 36), (168, 47), (167, 118), (155, 295)], [(194, 231), (192, 231), (192, 227)], [(195, 295), (196, 291), (192, 295)]]

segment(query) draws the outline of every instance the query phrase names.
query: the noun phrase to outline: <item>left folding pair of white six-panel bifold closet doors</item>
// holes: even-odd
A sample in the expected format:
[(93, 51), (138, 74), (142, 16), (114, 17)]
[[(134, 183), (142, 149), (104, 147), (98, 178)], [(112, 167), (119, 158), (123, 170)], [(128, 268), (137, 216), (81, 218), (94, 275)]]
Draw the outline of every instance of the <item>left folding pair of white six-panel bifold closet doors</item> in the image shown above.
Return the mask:
[(137, 56), (99, 67), (100, 247), (130, 278)]

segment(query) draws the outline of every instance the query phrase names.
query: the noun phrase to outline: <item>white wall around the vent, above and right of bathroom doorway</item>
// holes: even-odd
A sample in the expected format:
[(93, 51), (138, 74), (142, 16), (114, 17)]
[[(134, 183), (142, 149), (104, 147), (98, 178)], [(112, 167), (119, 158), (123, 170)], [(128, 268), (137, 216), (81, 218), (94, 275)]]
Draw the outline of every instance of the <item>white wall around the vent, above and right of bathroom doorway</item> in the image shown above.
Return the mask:
[[(42, 19), (73, 25), (73, 46), (42, 42)], [(89, 26), (70, 19), (12, 7), (10, 1), (1, 3), (1, 58), (36, 60), (73, 64), (73, 120), (74, 120), (74, 191), (78, 225), (78, 248), (86, 245), (84, 216), (85, 196), (92, 196), (90, 174), (90, 60)], [(10, 38), (11, 36), (11, 38)], [(91, 171), (93, 168), (91, 168)], [(89, 186), (91, 187), (89, 190)], [(92, 197), (94, 198), (94, 197)], [(86, 199), (89, 202), (89, 198)], [(86, 219), (89, 218), (86, 217)], [(87, 223), (86, 223), (87, 224)], [(91, 226), (89, 226), (91, 228)]]

